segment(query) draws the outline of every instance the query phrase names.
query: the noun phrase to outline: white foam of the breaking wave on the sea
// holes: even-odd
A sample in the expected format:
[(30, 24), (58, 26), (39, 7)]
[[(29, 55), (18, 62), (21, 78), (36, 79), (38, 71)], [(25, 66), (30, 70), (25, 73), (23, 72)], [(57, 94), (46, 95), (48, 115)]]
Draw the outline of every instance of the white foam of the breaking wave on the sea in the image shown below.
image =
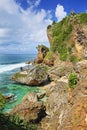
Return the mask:
[(0, 73), (11, 71), (16, 68), (24, 67), (26, 66), (25, 63), (18, 63), (18, 64), (10, 64), (10, 65), (0, 65)]

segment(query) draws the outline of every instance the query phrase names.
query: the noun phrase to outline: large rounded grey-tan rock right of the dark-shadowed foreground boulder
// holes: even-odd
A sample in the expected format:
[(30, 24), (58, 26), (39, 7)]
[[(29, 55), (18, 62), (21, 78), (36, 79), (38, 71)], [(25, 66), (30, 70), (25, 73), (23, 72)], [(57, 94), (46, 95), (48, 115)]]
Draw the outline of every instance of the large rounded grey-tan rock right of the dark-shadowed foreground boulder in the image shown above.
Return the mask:
[(67, 84), (58, 82), (54, 87), (50, 87), (49, 97), (46, 102), (47, 115), (53, 116), (56, 110), (63, 110), (68, 103)]

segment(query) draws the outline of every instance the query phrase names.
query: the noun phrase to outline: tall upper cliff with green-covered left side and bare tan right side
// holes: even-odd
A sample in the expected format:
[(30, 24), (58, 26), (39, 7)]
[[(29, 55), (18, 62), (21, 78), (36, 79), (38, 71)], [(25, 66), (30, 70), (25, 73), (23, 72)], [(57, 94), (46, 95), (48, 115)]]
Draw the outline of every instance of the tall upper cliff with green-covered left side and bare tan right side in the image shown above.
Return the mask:
[(59, 59), (76, 61), (87, 58), (87, 13), (71, 14), (61, 22), (49, 25), (50, 51)]

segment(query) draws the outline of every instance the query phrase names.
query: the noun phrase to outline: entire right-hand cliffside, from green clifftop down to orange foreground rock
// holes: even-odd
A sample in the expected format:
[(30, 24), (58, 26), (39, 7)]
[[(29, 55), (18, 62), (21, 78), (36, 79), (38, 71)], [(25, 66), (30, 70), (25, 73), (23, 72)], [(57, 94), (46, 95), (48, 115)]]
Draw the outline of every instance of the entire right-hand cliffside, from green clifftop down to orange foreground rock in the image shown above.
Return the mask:
[[(87, 14), (72, 13), (49, 25), (47, 36), (50, 51), (44, 60), (54, 59), (54, 66), (48, 71), (54, 85), (46, 91), (47, 116), (41, 121), (40, 130), (86, 130)], [(77, 75), (75, 88), (69, 86), (71, 73)]]

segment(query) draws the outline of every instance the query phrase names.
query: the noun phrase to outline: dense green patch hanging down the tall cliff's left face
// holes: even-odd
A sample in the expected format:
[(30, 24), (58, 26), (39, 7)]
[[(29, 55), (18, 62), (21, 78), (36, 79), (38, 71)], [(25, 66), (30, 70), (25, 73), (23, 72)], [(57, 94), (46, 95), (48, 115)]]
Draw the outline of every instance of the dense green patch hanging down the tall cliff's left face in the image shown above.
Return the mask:
[(52, 27), (53, 43), (50, 50), (60, 54), (60, 59), (67, 60), (67, 46), (66, 41), (70, 38), (72, 32), (72, 25), (68, 24), (69, 17), (64, 18), (61, 22), (55, 23)]

